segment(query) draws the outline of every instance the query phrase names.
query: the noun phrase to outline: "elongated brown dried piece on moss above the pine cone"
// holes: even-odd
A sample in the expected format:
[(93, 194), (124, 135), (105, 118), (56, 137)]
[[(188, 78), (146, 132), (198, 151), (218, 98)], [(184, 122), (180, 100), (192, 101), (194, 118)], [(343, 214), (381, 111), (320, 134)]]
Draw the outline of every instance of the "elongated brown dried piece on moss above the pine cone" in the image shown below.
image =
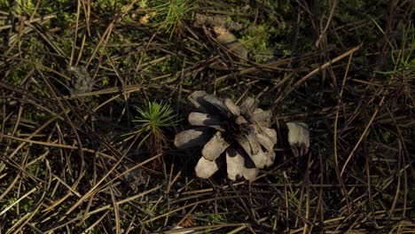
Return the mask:
[(215, 26), (213, 28), (218, 43), (223, 44), (228, 50), (234, 52), (239, 58), (247, 59), (247, 49), (245, 49), (242, 43), (239, 43), (235, 35), (221, 26)]

